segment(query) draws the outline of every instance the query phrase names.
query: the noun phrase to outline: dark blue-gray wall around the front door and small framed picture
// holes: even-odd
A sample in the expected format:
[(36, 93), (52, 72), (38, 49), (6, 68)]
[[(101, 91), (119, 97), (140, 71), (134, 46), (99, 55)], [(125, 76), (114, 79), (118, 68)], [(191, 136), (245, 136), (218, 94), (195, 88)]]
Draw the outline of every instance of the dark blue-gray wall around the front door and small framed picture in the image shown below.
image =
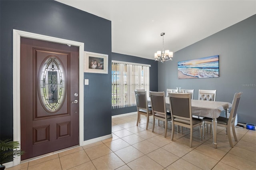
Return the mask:
[[(111, 65), (109, 20), (56, 1), (0, 0), (0, 24), (1, 139), (13, 136), (13, 29), (83, 42), (85, 51), (107, 54)], [(111, 67), (108, 74), (84, 73), (84, 79), (84, 140), (111, 134)]]

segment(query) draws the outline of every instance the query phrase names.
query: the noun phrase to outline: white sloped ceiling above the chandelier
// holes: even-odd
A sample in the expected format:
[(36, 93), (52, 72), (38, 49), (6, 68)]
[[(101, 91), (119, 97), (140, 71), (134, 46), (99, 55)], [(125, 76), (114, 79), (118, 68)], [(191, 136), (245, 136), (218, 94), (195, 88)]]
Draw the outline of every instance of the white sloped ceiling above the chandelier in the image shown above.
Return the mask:
[[(154, 59), (256, 14), (256, 0), (57, 0), (112, 23), (112, 52)], [(175, 54), (174, 54), (175, 57)]]

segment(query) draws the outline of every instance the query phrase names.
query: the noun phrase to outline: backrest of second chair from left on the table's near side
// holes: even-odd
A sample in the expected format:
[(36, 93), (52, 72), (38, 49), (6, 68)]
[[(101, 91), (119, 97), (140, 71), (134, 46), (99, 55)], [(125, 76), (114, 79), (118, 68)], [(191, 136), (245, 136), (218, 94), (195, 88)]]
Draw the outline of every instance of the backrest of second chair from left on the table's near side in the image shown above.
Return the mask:
[(164, 92), (150, 91), (152, 112), (166, 115), (166, 103)]

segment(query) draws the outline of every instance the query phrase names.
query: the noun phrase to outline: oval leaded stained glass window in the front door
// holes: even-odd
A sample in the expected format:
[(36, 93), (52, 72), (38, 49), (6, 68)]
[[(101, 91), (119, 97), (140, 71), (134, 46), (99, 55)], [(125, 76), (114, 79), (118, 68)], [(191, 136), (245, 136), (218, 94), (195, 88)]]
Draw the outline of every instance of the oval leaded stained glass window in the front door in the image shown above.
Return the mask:
[(60, 61), (51, 56), (42, 66), (40, 91), (42, 104), (47, 111), (55, 112), (62, 105), (65, 93), (65, 80)]

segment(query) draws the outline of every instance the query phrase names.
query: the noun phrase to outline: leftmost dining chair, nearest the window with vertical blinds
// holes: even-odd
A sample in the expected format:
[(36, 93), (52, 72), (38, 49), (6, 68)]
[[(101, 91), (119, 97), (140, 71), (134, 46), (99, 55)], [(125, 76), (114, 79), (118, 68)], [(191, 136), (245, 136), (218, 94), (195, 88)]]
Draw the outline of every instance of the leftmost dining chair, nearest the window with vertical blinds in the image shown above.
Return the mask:
[(149, 117), (152, 116), (152, 109), (148, 107), (148, 99), (147, 99), (147, 93), (146, 91), (138, 91), (135, 90), (135, 98), (136, 98), (136, 104), (137, 104), (137, 112), (138, 112), (138, 117), (137, 117), (137, 126), (140, 123), (140, 115), (144, 115), (147, 118), (147, 125), (146, 129), (148, 129), (148, 122), (149, 122)]

